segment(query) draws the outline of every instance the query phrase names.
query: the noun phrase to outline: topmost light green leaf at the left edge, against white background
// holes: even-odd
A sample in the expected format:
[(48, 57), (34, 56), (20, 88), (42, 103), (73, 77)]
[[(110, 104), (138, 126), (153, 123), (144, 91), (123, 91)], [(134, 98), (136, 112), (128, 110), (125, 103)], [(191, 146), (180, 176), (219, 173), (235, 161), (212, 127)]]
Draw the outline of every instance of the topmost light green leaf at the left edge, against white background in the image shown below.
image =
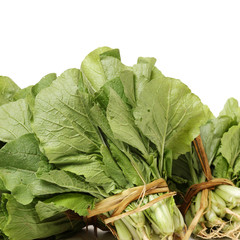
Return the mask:
[(20, 87), (9, 77), (0, 76), (0, 105), (12, 102), (16, 92)]

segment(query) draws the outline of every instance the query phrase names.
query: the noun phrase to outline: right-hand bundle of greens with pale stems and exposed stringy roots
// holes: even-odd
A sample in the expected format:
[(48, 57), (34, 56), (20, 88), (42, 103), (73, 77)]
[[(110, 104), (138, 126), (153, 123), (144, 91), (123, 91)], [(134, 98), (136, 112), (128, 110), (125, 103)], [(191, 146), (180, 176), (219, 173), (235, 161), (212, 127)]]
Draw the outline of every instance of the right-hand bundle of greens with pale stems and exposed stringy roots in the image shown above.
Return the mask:
[[(229, 99), (217, 118), (209, 120), (201, 127), (201, 138), (214, 178), (231, 180), (235, 186), (219, 185), (209, 190), (208, 205), (198, 221), (193, 233), (202, 238), (229, 237), (238, 239), (240, 232), (240, 107), (237, 100)], [(192, 151), (181, 155), (173, 163), (173, 175), (192, 184), (206, 180), (202, 166)], [(182, 189), (186, 186), (180, 186)], [(186, 189), (186, 188), (185, 188)], [(200, 209), (199, 192), (192, 200), (185, 220), (189, 226)]]

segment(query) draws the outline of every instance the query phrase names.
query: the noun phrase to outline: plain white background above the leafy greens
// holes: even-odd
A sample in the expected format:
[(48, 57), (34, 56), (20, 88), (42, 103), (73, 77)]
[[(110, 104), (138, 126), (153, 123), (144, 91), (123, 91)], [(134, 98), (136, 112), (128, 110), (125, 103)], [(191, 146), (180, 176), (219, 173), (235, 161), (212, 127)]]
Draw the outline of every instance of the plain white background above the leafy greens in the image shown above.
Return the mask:
[(100, 46), (119, 48), (129, 65), (157, 58), (215, 115), (240, 100), (238, 0), (0, 0), (0, 75), (20, 87), (79, 68)]

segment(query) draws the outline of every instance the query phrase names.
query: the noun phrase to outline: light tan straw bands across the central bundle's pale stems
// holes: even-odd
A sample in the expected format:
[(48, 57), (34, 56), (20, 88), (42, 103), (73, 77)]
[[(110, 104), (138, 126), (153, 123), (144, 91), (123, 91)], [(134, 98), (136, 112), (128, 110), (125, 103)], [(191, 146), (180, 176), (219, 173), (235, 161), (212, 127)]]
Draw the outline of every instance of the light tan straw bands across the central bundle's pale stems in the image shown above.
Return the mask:
[[(138, 207), (134, 210), (122, 213), (131, 202), (154, 193), (165, 194), (155, 198), (143, 206), (139, 204)], [(129, 188), (119, 194), (113, 195), (100, 201), (95, 205), (94, 209), (88, 210), (87, 217), (90, 218), (102, 213), (113, 211), (111, 217), (103, 220), (105, 224), (113, 223), (114, 221), (124, 218), (133, 213), (144, 211), (151, 207), (153, 204), (174, 195), (176, 195), (176, 192), (169, 192), (166, 181), (163, 178), (159, 178), (149, 184)]]

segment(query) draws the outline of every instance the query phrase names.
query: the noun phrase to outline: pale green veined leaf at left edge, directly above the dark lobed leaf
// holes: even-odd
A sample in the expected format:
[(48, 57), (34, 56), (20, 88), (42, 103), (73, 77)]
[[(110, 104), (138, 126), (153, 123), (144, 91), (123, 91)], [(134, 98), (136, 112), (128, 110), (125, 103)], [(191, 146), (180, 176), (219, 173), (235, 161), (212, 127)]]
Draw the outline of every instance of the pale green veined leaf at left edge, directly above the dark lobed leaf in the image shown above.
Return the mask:
[(31, 133), (31, 113), (24, 99), (0, 106), (0, 140), (9, 142)]

